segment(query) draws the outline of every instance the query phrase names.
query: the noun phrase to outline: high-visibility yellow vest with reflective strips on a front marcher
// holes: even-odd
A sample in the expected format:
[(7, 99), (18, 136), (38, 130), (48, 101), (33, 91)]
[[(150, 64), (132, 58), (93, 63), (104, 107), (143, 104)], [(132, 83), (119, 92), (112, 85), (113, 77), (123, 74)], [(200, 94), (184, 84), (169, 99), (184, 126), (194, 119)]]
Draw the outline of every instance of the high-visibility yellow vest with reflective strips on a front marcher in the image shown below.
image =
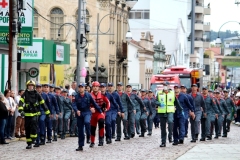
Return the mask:
[(158, 92), (158, 102), (160, 106), (158, 106), (158, 113), (174, 113), (175, 112), (175, 94), (173, 91), (169, 91), (166, 94), (163, 91)]

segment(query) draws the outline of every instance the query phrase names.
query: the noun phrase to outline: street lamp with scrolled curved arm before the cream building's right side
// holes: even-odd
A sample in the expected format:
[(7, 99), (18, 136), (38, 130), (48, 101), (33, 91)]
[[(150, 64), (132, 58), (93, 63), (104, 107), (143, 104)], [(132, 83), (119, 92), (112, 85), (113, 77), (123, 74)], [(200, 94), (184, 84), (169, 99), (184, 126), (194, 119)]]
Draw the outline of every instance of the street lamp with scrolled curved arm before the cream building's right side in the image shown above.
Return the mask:
[[(104, 34), (107, 34), (107, 33), (110, 31), (110, 28), (109, 28), (107, 32), (102, 32), (102, 31), (100, 30), (100, 24), (101, 24), (102, 20), (103, 20), (105, 17), (109, 16), (109, 15), (112, 15), (112, 13), (106, 14), (100, 21), (99, 21), (99, 13), (98, 13), (98, 15), (97, 15), (96, 81), (98, 81), (98, 43), (99, 43), (99, 32), (101, 32), (101, 33), (104, 35)], [(117, 13), (114, 13), (114, 15), (119, 15), (119, 16), (123, 17), (121, 14), (117, 14)], [(125, 18), (125, 17), (123, 17), (123, 18)], [(128, 32), (127, 32), (125, 38), (126, 38), (126, 40), (127, 40), (128, 42), (132, 40), (132, 33), (131, 33), (131, 31), (130, 31), (129, 23), (128, 23)]]

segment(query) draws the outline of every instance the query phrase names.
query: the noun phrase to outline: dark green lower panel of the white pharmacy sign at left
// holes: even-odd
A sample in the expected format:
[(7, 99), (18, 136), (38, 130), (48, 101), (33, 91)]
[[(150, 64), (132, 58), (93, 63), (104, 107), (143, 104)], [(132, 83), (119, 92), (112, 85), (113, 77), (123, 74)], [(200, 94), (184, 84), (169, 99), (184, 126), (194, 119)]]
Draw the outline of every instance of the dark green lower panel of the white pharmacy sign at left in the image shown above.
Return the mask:
[[(4, 28), (4, 27), (3, 27)], [(0, 44), (7, 44), (8, 30), (0, 30)], [(18, 33), (18, 45), (21, 46), (31, 46), (32, 45), (32, 31), (22, 30), (21, 33)]]

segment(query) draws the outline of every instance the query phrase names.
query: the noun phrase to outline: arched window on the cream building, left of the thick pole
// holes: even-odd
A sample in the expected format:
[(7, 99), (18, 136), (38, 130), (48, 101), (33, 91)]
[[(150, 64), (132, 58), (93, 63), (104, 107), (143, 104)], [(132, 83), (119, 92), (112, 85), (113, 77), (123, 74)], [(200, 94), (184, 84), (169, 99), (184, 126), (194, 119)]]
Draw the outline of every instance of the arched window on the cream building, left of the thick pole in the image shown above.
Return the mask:
[[(50, 20), (53, 22), (50, 26), (50, 38), (52, 40), (63, 40), (63, 27), (60, 30), (60, 37), (58, 37), (59, 25), (64, 23), (64, 14), (60, 8), (53, 8), (50, 12)], [(54, 24), (55, 23), (55, 24)]]

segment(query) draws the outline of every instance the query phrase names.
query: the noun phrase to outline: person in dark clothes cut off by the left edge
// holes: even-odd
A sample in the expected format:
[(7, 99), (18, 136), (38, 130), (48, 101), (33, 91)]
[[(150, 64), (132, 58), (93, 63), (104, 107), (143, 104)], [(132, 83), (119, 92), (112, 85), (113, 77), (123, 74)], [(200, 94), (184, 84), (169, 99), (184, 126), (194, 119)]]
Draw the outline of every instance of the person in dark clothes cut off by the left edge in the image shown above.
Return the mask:
[(5, 140), (4, 130), (8, 118), (8, 109), (4, 102), (4, 95), (0, 92), (0, 144), (8, 144)]

